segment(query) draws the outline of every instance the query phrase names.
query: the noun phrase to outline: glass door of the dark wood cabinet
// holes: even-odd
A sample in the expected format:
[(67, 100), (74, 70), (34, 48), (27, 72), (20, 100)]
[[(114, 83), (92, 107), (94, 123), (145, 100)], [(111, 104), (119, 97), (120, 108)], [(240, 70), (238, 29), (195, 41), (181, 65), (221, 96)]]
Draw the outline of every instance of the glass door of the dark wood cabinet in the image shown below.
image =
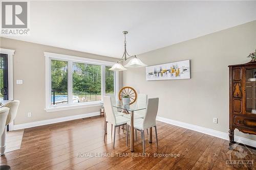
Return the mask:
[(246, 113), (256, 114), (256, 68), (248, 68), (246, 74)]

